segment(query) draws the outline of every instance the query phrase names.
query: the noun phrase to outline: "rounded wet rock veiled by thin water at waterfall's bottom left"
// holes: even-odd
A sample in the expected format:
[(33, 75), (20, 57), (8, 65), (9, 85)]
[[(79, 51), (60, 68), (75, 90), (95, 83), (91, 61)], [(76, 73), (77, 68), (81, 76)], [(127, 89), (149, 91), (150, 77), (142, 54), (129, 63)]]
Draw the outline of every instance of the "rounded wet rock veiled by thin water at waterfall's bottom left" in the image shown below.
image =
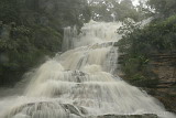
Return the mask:
[[(81, 111), (80, 111), (81, 110)], [(4, 118), (84, 118), (82, 112), (86, 109), (70, 104), (59, 104), (52, 101), (30, 103), (12, 109)], [(26, 117), (26, 118), (28, 118)]]

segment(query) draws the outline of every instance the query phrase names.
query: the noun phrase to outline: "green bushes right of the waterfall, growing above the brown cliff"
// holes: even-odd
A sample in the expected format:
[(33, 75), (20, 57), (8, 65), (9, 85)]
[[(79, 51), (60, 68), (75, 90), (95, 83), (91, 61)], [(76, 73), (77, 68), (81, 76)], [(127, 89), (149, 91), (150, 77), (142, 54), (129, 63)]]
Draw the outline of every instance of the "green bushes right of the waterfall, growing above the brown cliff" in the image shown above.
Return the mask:
[(125, 22), (118, 32), (123, 33), (119, 42), (123, 54), (122, 69), (133, 82), (145, 82), (155, 76), (150, 68), (151, 54), (176, 51), (176, 15), (153, 21), (144, 28)]

